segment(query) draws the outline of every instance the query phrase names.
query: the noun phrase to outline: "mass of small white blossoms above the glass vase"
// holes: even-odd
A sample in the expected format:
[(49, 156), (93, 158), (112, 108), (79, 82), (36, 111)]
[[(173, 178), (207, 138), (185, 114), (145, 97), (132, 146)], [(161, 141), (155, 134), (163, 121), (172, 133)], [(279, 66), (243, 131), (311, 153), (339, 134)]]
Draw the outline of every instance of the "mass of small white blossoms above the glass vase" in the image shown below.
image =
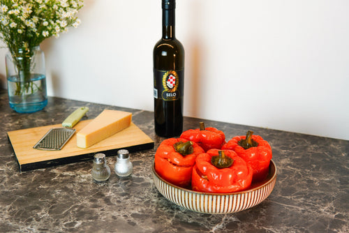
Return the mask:
[(8, 46), (40, 44), (78, 27), (82, 0), (0, 0), (0, 35)]

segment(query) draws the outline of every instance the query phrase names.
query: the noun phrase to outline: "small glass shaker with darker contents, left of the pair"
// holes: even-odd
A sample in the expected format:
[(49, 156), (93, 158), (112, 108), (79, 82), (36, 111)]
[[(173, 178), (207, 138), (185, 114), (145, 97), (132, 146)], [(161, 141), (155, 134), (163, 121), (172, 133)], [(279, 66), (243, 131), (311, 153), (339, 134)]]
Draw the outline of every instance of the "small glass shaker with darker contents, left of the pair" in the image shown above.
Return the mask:
[(106, 181), (110, 177), (110, 167), (107, 165), (104, 153), (94, 155), (94, 167), (91, 171), (92, 178), (95, 181)]

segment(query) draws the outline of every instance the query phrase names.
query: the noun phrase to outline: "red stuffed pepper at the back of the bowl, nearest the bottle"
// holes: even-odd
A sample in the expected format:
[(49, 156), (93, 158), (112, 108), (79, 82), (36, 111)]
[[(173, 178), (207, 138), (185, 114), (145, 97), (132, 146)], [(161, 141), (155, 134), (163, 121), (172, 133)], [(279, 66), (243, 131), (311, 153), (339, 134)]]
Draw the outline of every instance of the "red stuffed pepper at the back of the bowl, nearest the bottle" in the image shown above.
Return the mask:
[(184, 131), (181, 136), (199, 144), (205, 151), (209, 149), (221, 149), (225, 144), (225, 135), (223, 131), (213, 127), (205, 128), (205, 123), (200, 122), (200, 128)]

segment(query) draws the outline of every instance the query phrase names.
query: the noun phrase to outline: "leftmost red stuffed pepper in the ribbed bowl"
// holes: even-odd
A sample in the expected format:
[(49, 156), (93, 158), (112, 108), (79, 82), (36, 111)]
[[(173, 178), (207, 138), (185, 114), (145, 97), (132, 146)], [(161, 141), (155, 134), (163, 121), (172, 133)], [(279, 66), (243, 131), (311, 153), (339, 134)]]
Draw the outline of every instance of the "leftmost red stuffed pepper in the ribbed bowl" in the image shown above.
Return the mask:
[(156, 172), (166, 181), (183, 188), (190, 186), (195, 158), (205, 151), (183, 138), (163, 140), (155, 153)]

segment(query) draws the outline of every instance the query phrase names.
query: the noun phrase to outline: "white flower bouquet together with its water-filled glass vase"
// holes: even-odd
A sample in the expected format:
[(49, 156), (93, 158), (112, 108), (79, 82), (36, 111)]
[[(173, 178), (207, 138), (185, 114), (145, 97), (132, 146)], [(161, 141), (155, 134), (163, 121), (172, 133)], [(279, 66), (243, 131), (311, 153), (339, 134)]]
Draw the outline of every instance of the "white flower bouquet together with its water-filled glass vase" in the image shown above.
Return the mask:
[(11, 107), (31, 103), (30, 98), (40, 98), (39, 92), (45, 96), (40, 101), (47, 104), (45, 60), (40, 43), (51, 36), (58, 38), (68, 27), (77, 27), (80, 20), (76, 14), (82, 6), (80, 0), (1, 0), (0, 39), (9, 50), (6, 73)]

